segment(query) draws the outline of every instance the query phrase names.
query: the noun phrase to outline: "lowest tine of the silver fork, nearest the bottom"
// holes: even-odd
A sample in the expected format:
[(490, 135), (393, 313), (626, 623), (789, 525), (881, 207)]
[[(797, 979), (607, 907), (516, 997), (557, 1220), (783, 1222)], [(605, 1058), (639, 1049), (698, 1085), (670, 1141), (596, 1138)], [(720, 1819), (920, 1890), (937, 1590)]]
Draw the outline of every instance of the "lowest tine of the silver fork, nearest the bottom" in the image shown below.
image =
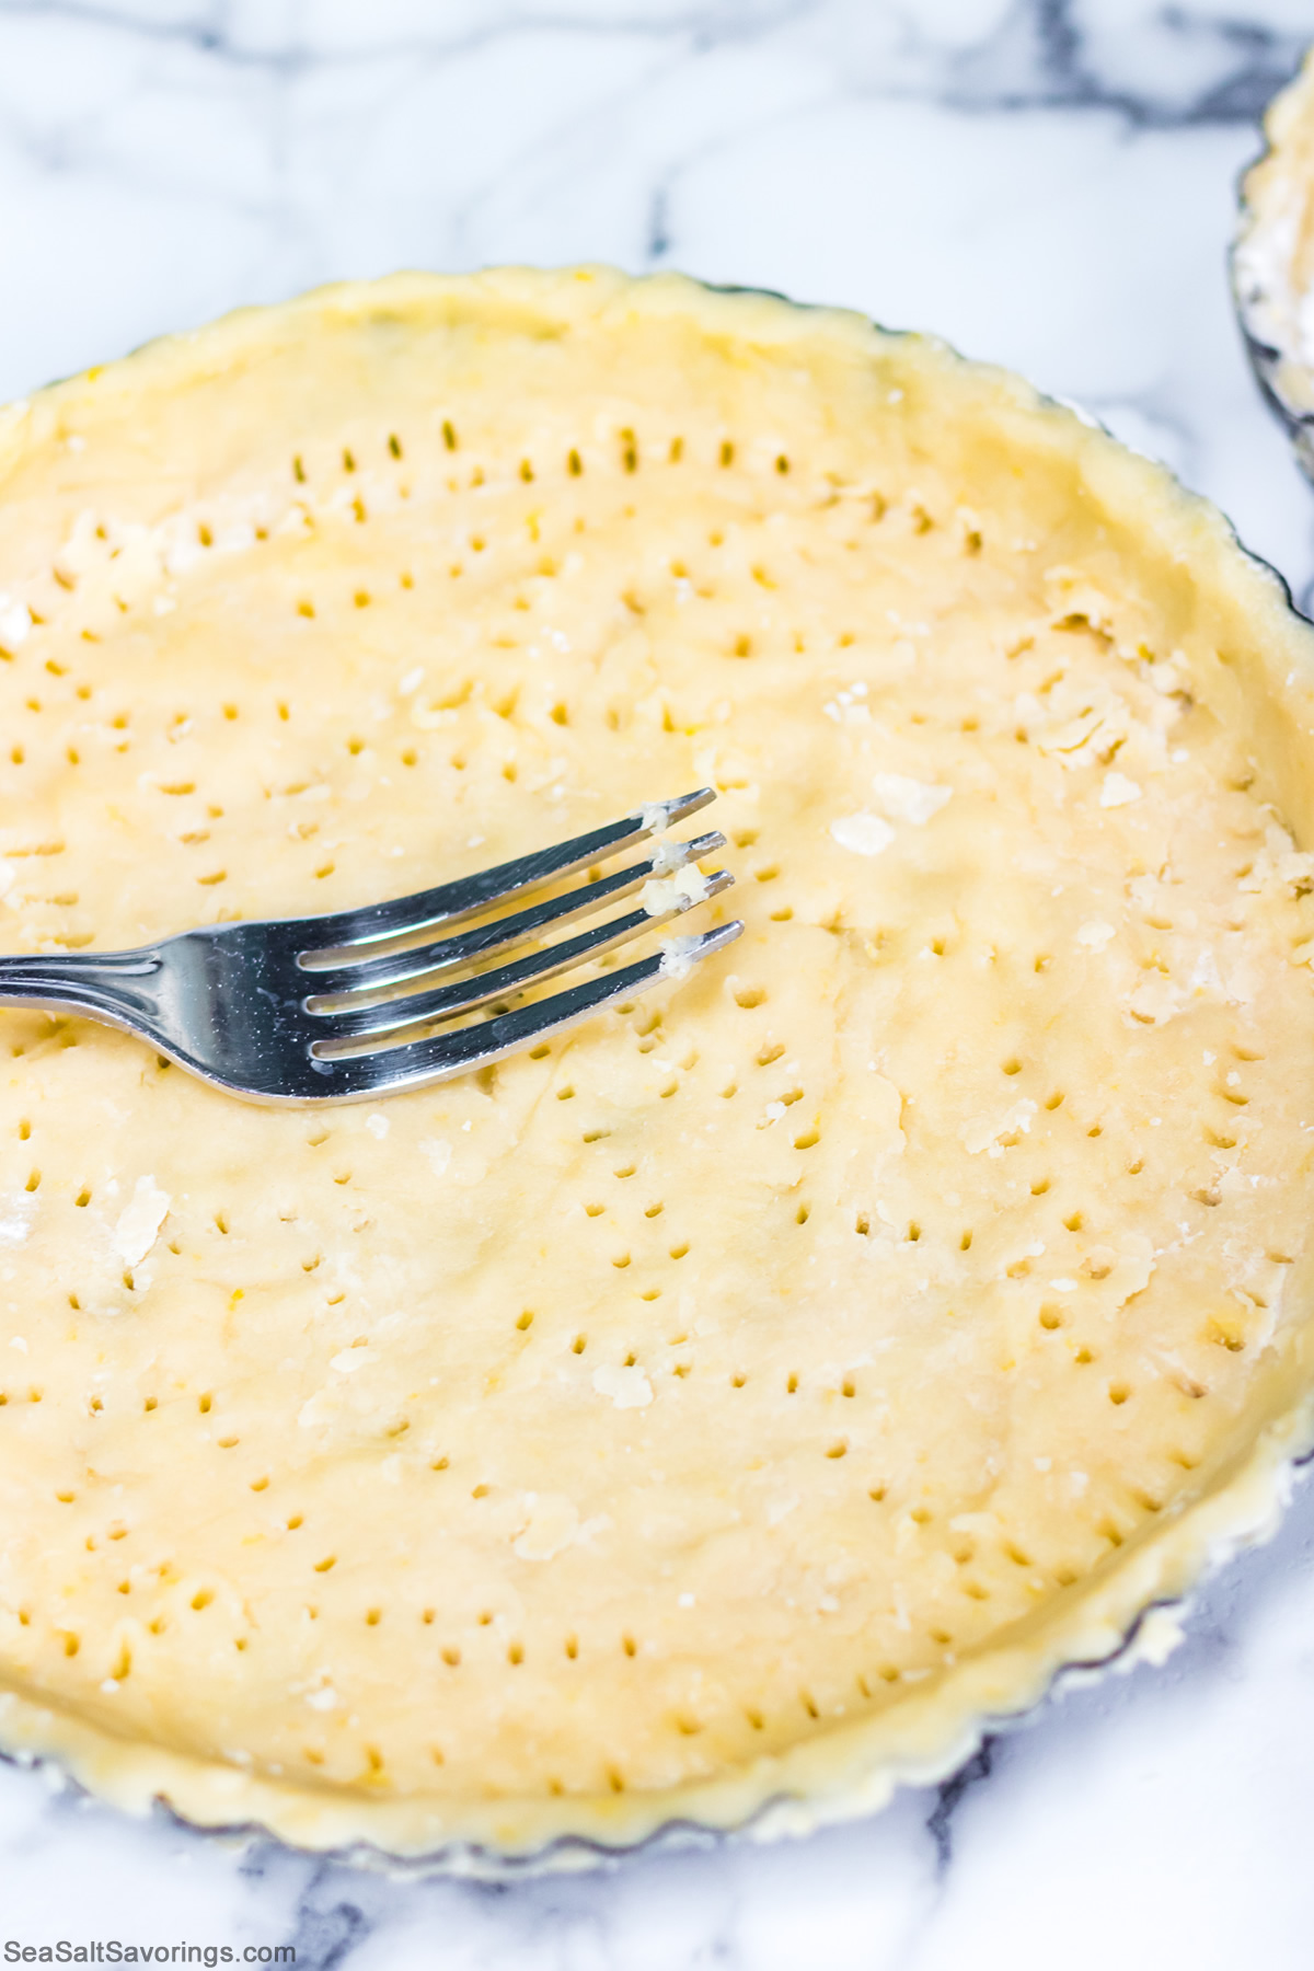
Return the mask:
[(406, 1047), (337, 1060), (315, 1058), (315, 1068), (325, 1084), (323, 1098), (329, 1102), (364, 1100), (374, 1094), (424, 1088), (449, 1080), (453, 1074), (469, 1074), (471, 1068), (502, 1060), (532, 1041), (573, 1027), (617, 999), (646, 991), (662, 978), (684, 978), (701, 958), (733, 944), (741, 930), (743, 922), (735, 918), (697, 938), (672, 938), (662, 952), (624, 966), (621, 972), (605, 972), (597, 980), (585, 980), (581, 986), (518, 1007), (514, 1013), (500, 1013), (496, 1019), (457, 1027), (426, 1041), (410, 1041)]

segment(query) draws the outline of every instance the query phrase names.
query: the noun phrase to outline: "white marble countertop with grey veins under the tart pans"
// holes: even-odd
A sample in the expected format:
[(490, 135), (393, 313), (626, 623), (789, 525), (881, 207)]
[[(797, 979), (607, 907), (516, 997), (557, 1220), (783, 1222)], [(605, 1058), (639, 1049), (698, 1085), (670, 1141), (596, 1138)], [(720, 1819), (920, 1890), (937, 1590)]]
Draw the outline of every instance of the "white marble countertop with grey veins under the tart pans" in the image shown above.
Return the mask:
[[(1080, 398), (1304, 593), (1314, 495), (1223, 244), (1310, 37), (1310, 0), (0, 0), (0, 396), (341, 274), (682, 266)], [(1312, 1835), (1306, 1488), (1164, 1669), (786, 1849), (398, 1882), (0, 1766), (0, 1961), (120, 1937), (294, 1941), (299, 1971), (1306, 1971)]]

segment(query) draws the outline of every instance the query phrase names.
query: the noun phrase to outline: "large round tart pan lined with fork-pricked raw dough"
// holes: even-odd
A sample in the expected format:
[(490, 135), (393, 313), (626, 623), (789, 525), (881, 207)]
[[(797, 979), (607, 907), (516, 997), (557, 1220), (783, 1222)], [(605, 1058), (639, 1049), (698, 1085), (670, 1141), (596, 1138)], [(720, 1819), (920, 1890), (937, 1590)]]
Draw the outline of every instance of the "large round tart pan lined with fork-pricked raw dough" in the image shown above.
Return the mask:
[(1212, 507), (936, 341), (597, 268), (229, 317), (0, 475), (8, 948), (699, 781), (747, 920), (374, 1110), (0, 1015), (6, 1748), (465, 1869), (780, 1833), (1271, 1526), (1314, 633)]

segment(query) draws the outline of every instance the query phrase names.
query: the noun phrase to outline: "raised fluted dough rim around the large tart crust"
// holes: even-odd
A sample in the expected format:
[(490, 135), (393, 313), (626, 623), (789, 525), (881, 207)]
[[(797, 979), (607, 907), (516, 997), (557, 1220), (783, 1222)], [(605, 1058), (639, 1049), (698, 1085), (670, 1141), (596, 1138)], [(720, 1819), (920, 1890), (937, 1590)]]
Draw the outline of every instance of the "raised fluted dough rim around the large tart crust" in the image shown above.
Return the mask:
[[(400, 274), (376, 284), (343, 284), (152, 343), (118, 365), (10, 406), (0, 412), (0, 465), (20, 457), (32, 438), (49, 432), (93, 392), (181, 390), (201, 374), (240, 365), (270, 335), (296, 335), (307, 317), (380, 309), (406, 317), (408, 309), (471, 307), (483, 298), (493, 306), (532, 304), (558, 319), (583, 311), (619, 323), (634, 313), (695, 317), (709, 335), (751, 333), (772, 355), (814, 339), (859, 355), (896, 349), (910, 373), (975, 394), (1020, 438), (1076, 461), (1084, 493), (1097, 507), (1123, 522), (1135, 520), (1164, 568), (1188, 572), (1198, 597), (1217, 613), (1223, 635), (1231, 633), (1237, 646), (1229, 672), (1212, 680), (1214, 696), (1245, 729), (1261, 784), (1273, 790), (1298, 840), (1314, 838), (1314, 777), (1308, 773), (1314, 633), (1288, 607), (1273, 570), (1239, 548), (1214, 507), (1089, 420), (1042, 400), (1003, 371), (965, 363), (940, 341), (894, 337), (855, 313), (808, 309), (756, 292), (707, 290), (678, 276), (630, 282), (607, 270)], [(1038, 1703), (1060, 1671), (1103, 1665), (1129, 1638), (1147, 1656), (1162, 1654), (1172, 1632), (1147, 1622), (1147, 1612), (1182, 1600), (1210, 1567), (1275, 1529), (1292, 1464), (1314, 1445), (1312, 1354), (1314, 1336), (1292, 1323), (1282, 1360), (1257, 1380), (1249, 1431), (1229, 1461), (1198, 1498), (1168, 1510), (1068, 1591), (1062, 1606), (1042, 1620), (1017, 1624), (1015, 1634), (938, 1673), (877, 1717), (835, 1725), (810, 1742), (711, 1782), (654, 1794), (467, 1800), (459, 1809), (416, 1798), (317, 1794), (110, 1736), (22, 1685), (0, 1695), (0, 1742), (20, 1758), (59, 1760), (79, 1784), (126, 1811), (146, 1813), (154, 1801), (165, 1801), (197, 1827), (264, 1829), (294, 1847), (355, 1861), (398, 1859), (481, 1876), (589, 1867), (646, 1841), (678, 1841), (699, 1831), (745, 1829), (755, 1839), (806, 1833), (875, 1811), (898, 1784), (944, 1778), (985, 1731)]]

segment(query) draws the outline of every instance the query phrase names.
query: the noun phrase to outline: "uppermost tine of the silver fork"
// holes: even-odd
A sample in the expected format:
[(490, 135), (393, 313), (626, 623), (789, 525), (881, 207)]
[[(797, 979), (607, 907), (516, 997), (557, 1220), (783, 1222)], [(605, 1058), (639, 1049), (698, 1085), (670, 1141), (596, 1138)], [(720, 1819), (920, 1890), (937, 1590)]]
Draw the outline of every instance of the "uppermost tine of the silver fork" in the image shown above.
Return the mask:
[(591, 861), (617, 855), (646, 836), (662, 834), (715, 798), (715, 788), (699, 786), (676, 800), (650, 800), (619, 822), (609, 822), (607, 828), (593, 828), (585, 836), (558, 842), (552, 850), (536, 850), (532, 855), (518, 855), (493, 869), (477, 869), (475, 875), (459, 877), (455, 883), (439, 883), (435, 889), (394, 897), (390, 903), (364, 905), (359, 911), (303, 917), (299, 924), (305, 930), (305, 946), (297, 962), (305, 970), (341, 964), (355, 956), (355, 948), (361, 944), (402, 938), (427, 924), (447, 924), (493, 903), (506, 903), (524, 889), (571, 875)]

